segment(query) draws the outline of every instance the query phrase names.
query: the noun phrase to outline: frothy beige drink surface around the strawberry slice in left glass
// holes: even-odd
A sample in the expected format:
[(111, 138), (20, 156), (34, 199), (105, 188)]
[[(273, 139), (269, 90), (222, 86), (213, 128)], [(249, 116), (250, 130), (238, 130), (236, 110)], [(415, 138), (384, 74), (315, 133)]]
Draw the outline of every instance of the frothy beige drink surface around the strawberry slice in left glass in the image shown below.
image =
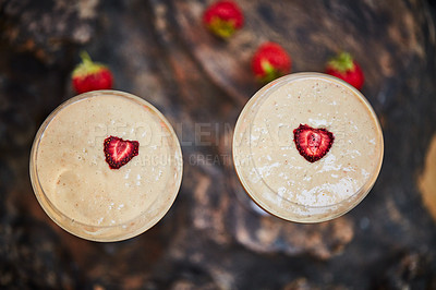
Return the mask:
[[(105, 160), (104, 141), (110, 135), (140, 143), (138, 155), (120, 169), (110, 169)], [(40, 185), (74, 221), (128, 222), (159, 210), (150, 208), (157, 198), (174, 198), (168, 192), (174, 191), (180, 168), (170, 136), (161, 119), (133, 99), (110, 94), (81, 99), (60, 110), (40, 138)]]

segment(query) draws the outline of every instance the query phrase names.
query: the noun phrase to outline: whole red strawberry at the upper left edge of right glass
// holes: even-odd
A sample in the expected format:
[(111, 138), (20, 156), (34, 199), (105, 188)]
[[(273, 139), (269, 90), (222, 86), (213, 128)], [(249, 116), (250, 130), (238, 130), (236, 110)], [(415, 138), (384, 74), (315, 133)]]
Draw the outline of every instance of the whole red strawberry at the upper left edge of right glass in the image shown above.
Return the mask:
[(268, 83), (290, 73), (291, 57), (278, 44), (267, 41), (259, 46), (252, 59), (252, 71), (262, 83)]

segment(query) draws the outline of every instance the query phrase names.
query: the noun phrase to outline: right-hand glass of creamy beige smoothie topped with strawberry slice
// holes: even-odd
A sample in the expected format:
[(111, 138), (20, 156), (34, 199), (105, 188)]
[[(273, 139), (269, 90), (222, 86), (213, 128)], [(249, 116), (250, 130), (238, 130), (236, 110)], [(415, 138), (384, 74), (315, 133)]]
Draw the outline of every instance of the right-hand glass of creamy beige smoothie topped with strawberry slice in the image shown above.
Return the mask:
[(353, 86), (294, 73), (261, 88), (243, 108), (233, 162), (249, 196), (289, 221), (343, 215), (373, 188), (384, 142), (378, 119)]

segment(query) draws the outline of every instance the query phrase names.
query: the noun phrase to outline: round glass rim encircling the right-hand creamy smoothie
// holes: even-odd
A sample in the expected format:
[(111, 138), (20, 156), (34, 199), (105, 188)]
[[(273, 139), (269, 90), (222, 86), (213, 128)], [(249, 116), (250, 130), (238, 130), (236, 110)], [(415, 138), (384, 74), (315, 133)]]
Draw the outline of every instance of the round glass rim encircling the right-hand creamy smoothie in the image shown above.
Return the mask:
[[(339, 83), (341, 86), (347, 87), (349, 90), (351, 90), (353, 93), (353, 95), (355, 95), (355, 97), (358, 97), (363, 104), (364, 106), (367, 108), (372, 119), (374, 120), (374, 123), (376, 125), (376, 130), (379, 132), (379, 145), (380, 145), (380, 149), (379, 149), (379, 156), (378, 158), (378, 162), (376, 166), (374, 166), (372, 172), (370, 172), (370, 178), (365, 181), (365, 183), (359, 189), (356, 190), (352, 195), (350, 195), (349, 197), (347, 197), (346, 200), (342, 200), (338, 203), (335, 204), (329, 204), (329, 205), (324, 205), (324, 206), (319, 206), (319, 205), (304, 205), (304, 204), (300, 204), (300, 203), (295, 203), (292, 201), (289, 201), (287, 198), (286, 200), (287, 203), (293, 205), (294, 207), (299, 207), (299, 208), (305, 208), (305, 209), (329, 209), (329, 208), (335, 208), (335, 207), (340, 207), (343, 205), (349, 204), (349, 206), (346, 207), (346, 210), (342, 210), (340, 213), (338, 213), (337, 215), (328, 215), (327, 218), (325, 219), (319, 219), (319, 220), (315, 220), (313, 221), (313, 216), (316, 216), (316, 214), (310, 214), (307, 216), (310, 216), (308, 219), (305, 219), (305, 215), (298, 215), (292, 213), (292, 215), (290, 216), (300, 216), (300, 219), (294, 219), (292, 217), (284, 217), (283, 215), (280, 215), (280, 212), (276, 212), (274, 208), (269, 208), (269, 206), (267, 204), (262, 203), (262, 198), (258, 198), (257, 196), (262, 195), (256, 193), (255, 190), (251, 189), (251, 186), (247, 184), (247, 182), (245, 181), (244, 178), (244, 173), (243, 170), (239, 167), (239, 162), (237, 160), (237, 133), (239, 131), (239, 128), (241, 126), (241, 123), (245, 120), (245, 117), (250, 113), (249, 111), (253, 108), (253, 106), (257, 102), (261, 101), (262, 99), (266, 99), (270, 93), (269, 90), (275, 90), (278, 89), (279, 87), (281, 87), (282, 85), (286, 85), (288, 83), (298, 81), (298, 80), (302, 80), (302, 78), (324, 78), (330, 82), (336, 82)], [(258, 110), (258, 108), (257, 108)], [(255, 110), (254, 112), (252, 112), (251, 114), (256, 114), (257, 110)], [(288, 220), (288, 221), (295, 221), (295, 222), (304, 222), (304, 223), (310, 223), (310, 222), (320, 222), (320, 221), (326, 221), (326, 220), (330, 220), (334, 218), (337, 218), (339, 216), (342, 216), (343, 214), (348, 213), (349, 210), (351, 210), (352, 208), (354, 208), (371, 191), (371, 189), (374, 186), (378, 174), (380, 172), (382, 169), (382, 165), (383, 165), (383, 158), (384, 158), (384, 137), (383, 137), (383, 130), (382, 130), (382, 125), (379, 123), (379, 120), (377, 118), (377, 114), (374, 111), (374, 108), (372, 107), (372, 105), (370, 104), (370, 101), (365, 98), (365, 96), (359, 90), (356, 89), (354, 86), (350, 85), (349, 83), (332, 76), (332, 75), (328, 75), (325, 73), (319, 73), (319, 72), (298, 72), (298, 73), (291, 73), (284, 76), (281, 76), (279, 78), (276, 78), (275, 81), (266, 84), (265, 86), (263, 86), (261, 89), (258, 89), (250, 99), (249, 101), (244, 105), (242, 111), (240, 112), (238, 120), (237, 120), (237, 124), (234, 126), (234, 133), (233, 133), (233, 140), (232, 140), (233, 144), (232, 144), (232, 159), (233, 159), (233, 166), (238, 176), (238, 179), (240, 180), (242, 188), (245, 190), (246, 194), (251, 197), (251, 200), (258, 205), (262, 209), (264, 209), (265, 212), (271, 214), (272, 216), (276, 216), (278, 218)], [(249, 160), (251, 161), (252, 158), (249, 158)], [(263, 183), (265, 183), (263, 181)], [(265, 184), (268, 189), (269, 185)], [(272, 191), (272, 193), (277, 194), (277, 192)]]

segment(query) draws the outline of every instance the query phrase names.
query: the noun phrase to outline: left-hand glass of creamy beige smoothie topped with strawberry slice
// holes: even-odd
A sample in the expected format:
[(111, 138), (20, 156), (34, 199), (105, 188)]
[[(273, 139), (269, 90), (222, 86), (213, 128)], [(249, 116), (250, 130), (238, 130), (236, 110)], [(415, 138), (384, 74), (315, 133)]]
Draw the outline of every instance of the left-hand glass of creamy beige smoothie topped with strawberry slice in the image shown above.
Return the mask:
[(182, 153), (167, 119), (131, 94), (96, 90), (60, 105), (31, 153), (31, 180), (47, 215), (93, 241), (135, 237), (169, 210)]

